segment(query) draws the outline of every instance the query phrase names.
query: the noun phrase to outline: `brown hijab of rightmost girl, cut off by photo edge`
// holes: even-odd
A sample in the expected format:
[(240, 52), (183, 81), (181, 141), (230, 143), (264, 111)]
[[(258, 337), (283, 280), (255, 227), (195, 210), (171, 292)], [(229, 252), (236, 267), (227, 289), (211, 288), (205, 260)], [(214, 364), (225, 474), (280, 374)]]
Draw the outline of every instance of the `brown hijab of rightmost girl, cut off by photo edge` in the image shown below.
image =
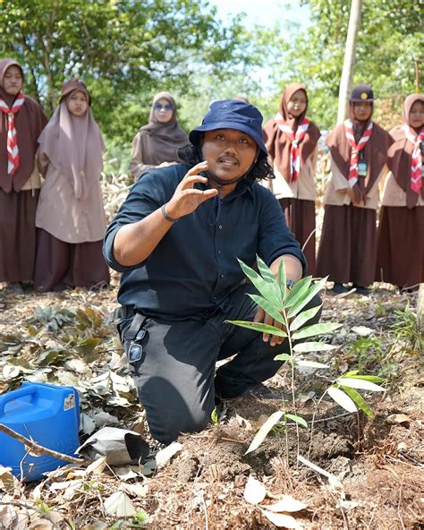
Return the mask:
[[(424, 103), (422, 94), (410, 94), (403, 101), (403, 123), (410, 125), (411, 107), (416, 101)], [(411, 156), (413, 145), (408, 141), (403, 130), (403, 125), (394, 127), (390, 131), (394, 143), (387, 153), (387, 166), (394, 175), (394, 180), (406, 193), (406, 206), (413, 208), (418, 201), (418, 193), (411, 190)], [(424, 162), (424, 161), (423, 161)], [(421, 197), (424, 199), (424, 186), (421, 186)]]

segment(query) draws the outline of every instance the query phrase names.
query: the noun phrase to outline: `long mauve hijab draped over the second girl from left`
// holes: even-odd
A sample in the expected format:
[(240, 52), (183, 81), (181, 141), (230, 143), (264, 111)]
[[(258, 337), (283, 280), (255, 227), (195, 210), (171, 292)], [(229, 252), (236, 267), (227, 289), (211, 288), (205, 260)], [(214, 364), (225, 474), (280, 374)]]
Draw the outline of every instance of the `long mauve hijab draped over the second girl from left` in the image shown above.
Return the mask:
[[(66, 102), (72, 92), (83, 92), (89, 104), (89, 91), (82, 81), (64, 83), (59, 106), (39, 137), (39, 157), (48, 158), (72, 185), (77, 199), (85, 199), (92, 184), (98, 182), (105, 150), (102, 133), (91, 109), (82, 116), (72, 115)], [(46, 173), (47, 165), (41, 168)]]

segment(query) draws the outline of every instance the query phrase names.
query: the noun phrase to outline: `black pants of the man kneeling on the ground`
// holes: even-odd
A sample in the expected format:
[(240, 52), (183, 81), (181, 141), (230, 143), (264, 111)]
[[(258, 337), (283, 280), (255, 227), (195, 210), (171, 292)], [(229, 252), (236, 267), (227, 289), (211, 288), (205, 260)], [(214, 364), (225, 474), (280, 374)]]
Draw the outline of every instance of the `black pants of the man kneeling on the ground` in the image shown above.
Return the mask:
[[(201, 431), (215, 407), (215, 394), (222, 398), (240, 396), (275, 375), (283, 364), (274, 357), (288, 352), (287, 340), (270, 346), (261, 333), (225, 323), (253, 320), (258, 306), (248, 292), (254, 292), (250, 284), (238, 287), (230, 297), (228, 312), (218, 311), (205, 319), (146, 318), (142, 322), (142, 355), (130, 366), (155, 439), (170, 443), (180, 432)], [(319, 303), (317, 296), (309, 306)], [(318, 317), (308, 324), (315, 321)], [(133, 339), (128, 338), (130, 328), (131, 320), (118, 325), (127, 355)], [(216, 361), (232, 355), (233, 359), (215, 372)]]

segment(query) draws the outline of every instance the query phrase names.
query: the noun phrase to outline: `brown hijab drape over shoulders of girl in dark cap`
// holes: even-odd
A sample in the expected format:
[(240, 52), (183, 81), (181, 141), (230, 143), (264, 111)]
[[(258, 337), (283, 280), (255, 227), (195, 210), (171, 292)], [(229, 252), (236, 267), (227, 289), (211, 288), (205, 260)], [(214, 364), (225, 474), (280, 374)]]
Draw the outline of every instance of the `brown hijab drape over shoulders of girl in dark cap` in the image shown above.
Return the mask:
[[(356, 142), (358, 143), (361, 135), (368, 127), (371, 117), (366, 122), (360, 122), (357, 120), (354, 113), (354, 103), (352, 101), (349, 102), (349, 117), (352, 120), (353, 133)], [(366, 178), (358, 179), (358, 182), (353, 186), (353, 190), (356, 194), (364, 200), (386, 164), (387, 149), (390, 143), (391, 140), (389, 134), (373, 122), (371, 137), (361, 151), (363, 152), (364, 160), (368, 164), (369, 172)], [(335, 161), (335, 165), (347, 180), (351, 167), (352, 146), (346, 138), (344, 124), (337, 125), (335, 129), (328, 134), (326, 137), (326, 145), (330, 150), (331, 157)]]

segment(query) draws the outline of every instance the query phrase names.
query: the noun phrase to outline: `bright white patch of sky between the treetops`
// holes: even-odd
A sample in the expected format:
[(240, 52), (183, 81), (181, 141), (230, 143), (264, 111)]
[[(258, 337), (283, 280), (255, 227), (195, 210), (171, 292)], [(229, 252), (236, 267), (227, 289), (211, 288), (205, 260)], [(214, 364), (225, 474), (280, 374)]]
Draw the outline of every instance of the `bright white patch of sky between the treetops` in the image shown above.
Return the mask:
[(276, 22), (295, 21), (301, 26), (309, 23), (309, 8), (299, 0), (210, 0), (215, 4), (219, 17), (225, 21), (228, 15), (246, 13), (246, 26), (255, 24), (272, 28)]

